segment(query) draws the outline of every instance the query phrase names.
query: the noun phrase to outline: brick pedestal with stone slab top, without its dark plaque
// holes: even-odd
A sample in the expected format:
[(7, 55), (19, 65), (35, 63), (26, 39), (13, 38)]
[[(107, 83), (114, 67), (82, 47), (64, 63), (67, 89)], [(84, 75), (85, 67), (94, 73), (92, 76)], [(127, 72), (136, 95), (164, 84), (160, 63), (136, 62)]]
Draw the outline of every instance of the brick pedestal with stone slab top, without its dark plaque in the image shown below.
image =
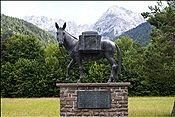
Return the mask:
[[(129, 82), (120, 83), (57, 83), (60, 87), (61, 117), (127, 117)], [(78, 109), (77, 91), (110, 91), (111, 108)], [(88, 98), (88, 97), (87, 97)]]

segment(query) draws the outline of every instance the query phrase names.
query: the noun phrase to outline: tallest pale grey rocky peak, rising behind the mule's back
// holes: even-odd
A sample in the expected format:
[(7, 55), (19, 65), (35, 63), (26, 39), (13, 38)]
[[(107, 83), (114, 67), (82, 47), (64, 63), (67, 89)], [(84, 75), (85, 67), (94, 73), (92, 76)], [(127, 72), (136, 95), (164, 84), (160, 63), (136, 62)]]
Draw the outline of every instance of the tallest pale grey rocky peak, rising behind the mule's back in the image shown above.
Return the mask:
[(114, 38), (143, 22), (145, 20), (140, 14), (114, 5), (103, 13), (93, 29), (106, 38)]

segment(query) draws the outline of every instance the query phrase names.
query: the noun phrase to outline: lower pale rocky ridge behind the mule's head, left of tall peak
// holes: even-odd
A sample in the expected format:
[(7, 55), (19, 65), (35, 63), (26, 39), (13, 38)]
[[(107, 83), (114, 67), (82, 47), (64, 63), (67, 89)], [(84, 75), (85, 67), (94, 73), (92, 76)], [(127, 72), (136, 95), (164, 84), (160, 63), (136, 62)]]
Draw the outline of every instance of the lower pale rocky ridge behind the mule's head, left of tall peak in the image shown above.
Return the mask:
[[(24, 20), (33, 23), (34, 25), (40, 27), (41, 29), (44, 29), (53, 35), (56, 35), (56, 28), (55, 28), (55, 22), (60, 24), (62, 26), (65, 22), (65, 20), (60, 18), (48, 18), (46, 16), (25, 16)], [(81, 35), (83, 31), (91, 30), (91, 25), (78, 25), (74, 21), (68, 21), (66, 31), (72, 34), (73, 36), (77, 37)]]

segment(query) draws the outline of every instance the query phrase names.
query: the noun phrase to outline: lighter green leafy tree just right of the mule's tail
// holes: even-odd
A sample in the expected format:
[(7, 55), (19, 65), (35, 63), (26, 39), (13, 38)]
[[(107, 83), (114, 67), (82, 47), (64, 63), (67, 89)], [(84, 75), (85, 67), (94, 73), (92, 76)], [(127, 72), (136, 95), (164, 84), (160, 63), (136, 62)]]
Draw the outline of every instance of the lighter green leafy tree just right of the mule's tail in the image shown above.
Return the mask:
[(122, 53), (122, 73), (119, 81), (131, 82), (129, 86), (130, 96), (143, 96), (150, 93), (145, 83), (145, 77), (139, 74), (138, 70), (143, 64), (142, 54), (145, 47), (134, 42), (128, 36), (122, 36), (116, 40)]

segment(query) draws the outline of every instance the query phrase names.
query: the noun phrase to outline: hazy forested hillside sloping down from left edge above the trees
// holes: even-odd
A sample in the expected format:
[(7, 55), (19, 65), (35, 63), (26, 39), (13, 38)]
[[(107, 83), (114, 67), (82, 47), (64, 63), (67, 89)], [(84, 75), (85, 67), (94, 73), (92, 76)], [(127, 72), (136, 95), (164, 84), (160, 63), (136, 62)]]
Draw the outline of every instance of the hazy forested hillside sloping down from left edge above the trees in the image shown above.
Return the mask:
[(32, 23), (1, 14), (1, 41), (15, 34), (34, 35), (44, 47), (57, 42), (52, 34)]

